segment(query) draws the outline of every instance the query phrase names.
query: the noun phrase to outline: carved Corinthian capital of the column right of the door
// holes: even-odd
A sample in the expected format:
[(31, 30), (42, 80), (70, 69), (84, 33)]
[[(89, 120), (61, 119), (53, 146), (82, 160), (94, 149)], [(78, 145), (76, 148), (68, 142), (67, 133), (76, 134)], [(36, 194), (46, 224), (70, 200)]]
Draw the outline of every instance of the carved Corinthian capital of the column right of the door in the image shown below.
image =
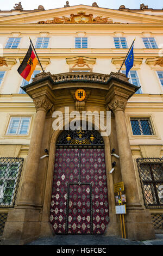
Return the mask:
[(127, 99), (122, 99), (120, 97), (115, 96), (114, 99), (108, 104), (108, 107), (113, 111), (125, 111), (127, 105)]

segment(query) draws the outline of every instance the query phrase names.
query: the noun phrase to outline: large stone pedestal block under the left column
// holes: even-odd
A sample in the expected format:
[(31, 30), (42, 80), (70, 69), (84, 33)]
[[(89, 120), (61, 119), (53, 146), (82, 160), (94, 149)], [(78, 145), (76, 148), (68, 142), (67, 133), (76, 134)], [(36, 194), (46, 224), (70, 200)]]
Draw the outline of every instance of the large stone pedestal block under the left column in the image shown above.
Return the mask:
[(40, 236), (40, 209), (25, 208), (9, 211), (2, 245), (24, 245)]

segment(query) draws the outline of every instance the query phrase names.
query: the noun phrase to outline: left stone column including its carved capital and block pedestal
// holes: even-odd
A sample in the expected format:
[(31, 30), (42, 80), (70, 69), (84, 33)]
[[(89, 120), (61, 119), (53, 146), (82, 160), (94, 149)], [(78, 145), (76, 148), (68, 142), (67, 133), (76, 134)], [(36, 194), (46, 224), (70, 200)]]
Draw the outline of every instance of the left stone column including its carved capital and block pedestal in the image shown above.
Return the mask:
[(8, 214), (2, 237), (3, 245), (23, 245), (40, 235), (41, 207), (36, 205), (35, 187), (39, 169), (45, 117), (52, 101), (46, 93), (34, 97), (36, 117), (30, 141), (26, 167), (22, 176), (20, 197)]

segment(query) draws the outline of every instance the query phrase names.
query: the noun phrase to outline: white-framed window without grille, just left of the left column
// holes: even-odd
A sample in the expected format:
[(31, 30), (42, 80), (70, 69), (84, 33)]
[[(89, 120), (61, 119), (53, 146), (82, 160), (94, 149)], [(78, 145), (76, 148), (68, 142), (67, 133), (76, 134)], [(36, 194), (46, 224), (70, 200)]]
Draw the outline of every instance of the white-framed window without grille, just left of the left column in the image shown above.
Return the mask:
[(27, 135), (30, 117), (11, 117), (7, 135)]

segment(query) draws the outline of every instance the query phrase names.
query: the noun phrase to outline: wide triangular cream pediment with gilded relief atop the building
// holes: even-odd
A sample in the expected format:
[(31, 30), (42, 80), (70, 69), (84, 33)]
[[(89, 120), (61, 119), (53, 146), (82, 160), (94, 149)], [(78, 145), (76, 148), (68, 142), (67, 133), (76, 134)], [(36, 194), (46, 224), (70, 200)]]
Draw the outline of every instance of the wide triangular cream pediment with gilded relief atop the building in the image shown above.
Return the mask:
[(114, 10), (88, 5), (75, 5), (73, 7), (57, 8), (51, 10), (40, 9), (28, 13), (1, 16), (0, 23), (6, 24), (139, 24), (163, 23), (163, 17), (143, 13), (133, 13), (125, 10)]

